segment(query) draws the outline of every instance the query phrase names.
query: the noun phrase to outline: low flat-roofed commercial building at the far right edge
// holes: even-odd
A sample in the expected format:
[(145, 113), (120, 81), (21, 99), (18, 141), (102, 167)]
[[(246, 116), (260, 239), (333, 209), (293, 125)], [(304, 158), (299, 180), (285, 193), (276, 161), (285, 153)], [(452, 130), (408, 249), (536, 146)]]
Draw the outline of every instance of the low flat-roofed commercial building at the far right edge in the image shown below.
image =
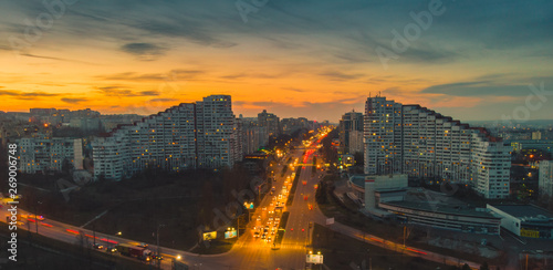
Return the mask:
[(553, 214), (533, 205), (488, 205), (501, 227), (517, 236), (553, 239)]

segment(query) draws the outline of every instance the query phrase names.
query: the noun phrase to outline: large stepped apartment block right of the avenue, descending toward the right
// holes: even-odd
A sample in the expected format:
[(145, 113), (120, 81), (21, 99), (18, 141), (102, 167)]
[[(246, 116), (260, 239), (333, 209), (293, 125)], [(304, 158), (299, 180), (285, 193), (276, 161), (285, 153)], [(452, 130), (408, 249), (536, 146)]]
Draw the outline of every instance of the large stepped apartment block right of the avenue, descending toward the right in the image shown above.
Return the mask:
[(509, 195), (510, 147), (486, 128), (382, 96), (368, 97), (365, 111), (366, 174), (462, 183), (486, 198)]

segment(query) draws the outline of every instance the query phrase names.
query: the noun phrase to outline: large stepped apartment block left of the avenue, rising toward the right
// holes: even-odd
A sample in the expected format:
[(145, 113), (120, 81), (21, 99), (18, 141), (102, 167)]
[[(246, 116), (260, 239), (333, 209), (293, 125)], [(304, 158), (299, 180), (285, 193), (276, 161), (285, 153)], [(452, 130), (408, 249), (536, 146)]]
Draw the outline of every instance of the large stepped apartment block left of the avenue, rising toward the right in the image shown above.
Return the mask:
[(146, 168), (232, 166), (241, 158), (238, 127), (229, 95), (182, 103), (96, 138), (94, 176), (119, 180)]

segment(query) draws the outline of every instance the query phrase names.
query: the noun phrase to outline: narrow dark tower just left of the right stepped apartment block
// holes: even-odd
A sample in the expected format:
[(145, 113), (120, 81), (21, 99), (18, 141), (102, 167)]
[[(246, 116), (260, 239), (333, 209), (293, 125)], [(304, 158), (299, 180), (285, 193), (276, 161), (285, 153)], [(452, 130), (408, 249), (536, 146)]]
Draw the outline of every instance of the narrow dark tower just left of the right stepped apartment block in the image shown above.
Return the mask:
[[(340, 154), (355, 154), (359, 152), (359, 133), (363, 132), (363, 114), (355, 111), (345, 113), (340, 120)], [(363, 153), (363, 149), (361, 149)]]

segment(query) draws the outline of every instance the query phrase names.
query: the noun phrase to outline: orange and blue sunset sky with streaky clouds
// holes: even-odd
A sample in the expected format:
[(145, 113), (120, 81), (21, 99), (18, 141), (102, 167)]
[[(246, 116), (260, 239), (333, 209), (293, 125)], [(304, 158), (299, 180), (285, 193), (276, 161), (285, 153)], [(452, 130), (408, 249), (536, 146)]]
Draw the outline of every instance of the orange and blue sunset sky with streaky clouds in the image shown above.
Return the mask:
[(553, 118), (551, 0), (444, 1), (387, 69), (377, 48), (393, 51), (393, 31), (403, 35), (430, 1), (269, 0), (246, 22), (234, 0), (66, 1), (53, 11), (0, 2), (0, 111), (145, 115), (230, 94), (237, 116), (267, 108), (336, 122), (382, 92), (463, 121), (498, 120), (543, 83), (549, 95), (532, 100), (543, 106), (530, 118)]

